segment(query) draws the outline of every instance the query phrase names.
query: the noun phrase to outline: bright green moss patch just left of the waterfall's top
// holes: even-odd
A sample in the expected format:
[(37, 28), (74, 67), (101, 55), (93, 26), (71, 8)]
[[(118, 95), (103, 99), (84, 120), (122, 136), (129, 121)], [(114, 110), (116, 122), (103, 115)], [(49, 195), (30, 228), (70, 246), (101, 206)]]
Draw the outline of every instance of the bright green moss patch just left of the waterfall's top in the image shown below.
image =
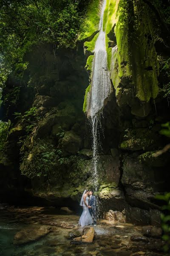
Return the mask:
[(91, 0), (88, 6), (85, 19), (79, 29), (78, 40), (84, 40), (91, 36), (99, 26), (99, 0)]

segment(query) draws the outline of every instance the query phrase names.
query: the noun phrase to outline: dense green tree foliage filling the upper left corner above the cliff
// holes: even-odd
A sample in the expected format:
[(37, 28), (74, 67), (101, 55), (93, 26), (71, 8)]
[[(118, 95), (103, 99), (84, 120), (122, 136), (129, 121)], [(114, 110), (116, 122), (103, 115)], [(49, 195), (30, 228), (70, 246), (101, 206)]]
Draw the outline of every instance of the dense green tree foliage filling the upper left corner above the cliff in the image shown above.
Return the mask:
[(15, 64), (37, 44), (74, 47), (85, 0), (0, 1), (0, 87)]

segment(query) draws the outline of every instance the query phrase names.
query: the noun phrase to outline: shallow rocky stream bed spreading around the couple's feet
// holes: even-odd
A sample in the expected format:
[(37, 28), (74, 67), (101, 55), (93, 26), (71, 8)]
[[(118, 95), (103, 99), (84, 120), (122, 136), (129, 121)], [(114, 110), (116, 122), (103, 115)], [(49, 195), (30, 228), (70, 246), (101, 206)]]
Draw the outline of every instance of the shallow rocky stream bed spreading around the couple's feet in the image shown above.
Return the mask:
[[(0, 207), (0, 255), (166, 255), (162, 252), (163, 242), (160, 239), (159, 229), (150, 227), (142, 229), (141, 226), (133, 224), (100, 220), (96, 227), (92, 227), (93, 242), (86, 243), (83, 242), (85, 227), (79, 227), (78, 220), (79, 215), (68, 211), (67, 208), (57, 210), (54, 207), (3, 205)], [(150, 229), (149, 233), (147, 233), (148, 229)]]

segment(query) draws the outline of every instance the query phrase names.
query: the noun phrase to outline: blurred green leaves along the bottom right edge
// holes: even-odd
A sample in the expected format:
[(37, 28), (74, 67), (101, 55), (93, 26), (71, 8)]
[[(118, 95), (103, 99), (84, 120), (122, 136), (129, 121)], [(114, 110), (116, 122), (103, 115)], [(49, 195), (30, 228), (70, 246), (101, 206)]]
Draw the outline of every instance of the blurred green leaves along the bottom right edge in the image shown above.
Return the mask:
[(164, 251), (170, 252), (170, 192), (164, 195), (156, 195), (156, 198), (166, 202), (162, 207), (164, 213), (161, 213), (161, 227), (164, 232), (162, 236), (162, 239), (165, 241)]

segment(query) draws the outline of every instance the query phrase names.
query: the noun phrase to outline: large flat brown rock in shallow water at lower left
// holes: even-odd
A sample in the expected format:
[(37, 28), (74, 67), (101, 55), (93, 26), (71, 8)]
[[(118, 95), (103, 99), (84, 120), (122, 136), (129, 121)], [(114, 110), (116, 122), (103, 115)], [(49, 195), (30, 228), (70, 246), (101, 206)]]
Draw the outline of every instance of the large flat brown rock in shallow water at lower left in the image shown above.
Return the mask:
[(25, 228), (15, 234), (13, 243), (15, 245), (26, 244), (47, 235), (51, 231), (51, 227), (49, 226)]

